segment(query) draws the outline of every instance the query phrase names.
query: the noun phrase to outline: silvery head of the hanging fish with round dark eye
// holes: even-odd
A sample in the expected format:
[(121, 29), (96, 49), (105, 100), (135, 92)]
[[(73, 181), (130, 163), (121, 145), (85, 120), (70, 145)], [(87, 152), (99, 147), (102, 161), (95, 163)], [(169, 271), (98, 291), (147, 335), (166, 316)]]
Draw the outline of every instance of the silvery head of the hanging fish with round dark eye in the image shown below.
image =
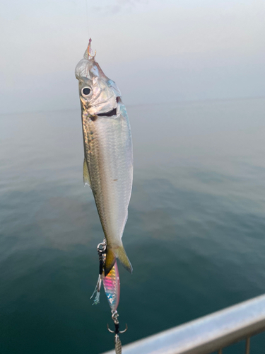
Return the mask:
[(109, 79), (91, 55), (90, 44), (83, 59), (76, 65), (76, 79), (79, 82), (81, 108), (89, 115), (115, 116), (121, 101), (121, 92)]

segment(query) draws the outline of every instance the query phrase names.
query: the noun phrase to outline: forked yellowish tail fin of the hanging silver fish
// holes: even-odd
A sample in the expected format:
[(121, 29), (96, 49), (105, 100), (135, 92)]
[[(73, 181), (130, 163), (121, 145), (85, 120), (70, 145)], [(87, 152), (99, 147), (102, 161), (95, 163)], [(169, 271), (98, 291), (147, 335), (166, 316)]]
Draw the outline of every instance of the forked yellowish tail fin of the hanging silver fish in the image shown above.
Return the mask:
[(119, 247), (107, 247), (107, 254), (106, 254), (106, 261), (105, 261), (105, 276), (110, 273), (112, 267), (116, 261), (116, 258), (122, 263), (124, 268), (128, 270), (132, 274), (132, 266), (131, 262), (129, 261), (128, 256), (126, 255), (125, 249), (123, 244)]

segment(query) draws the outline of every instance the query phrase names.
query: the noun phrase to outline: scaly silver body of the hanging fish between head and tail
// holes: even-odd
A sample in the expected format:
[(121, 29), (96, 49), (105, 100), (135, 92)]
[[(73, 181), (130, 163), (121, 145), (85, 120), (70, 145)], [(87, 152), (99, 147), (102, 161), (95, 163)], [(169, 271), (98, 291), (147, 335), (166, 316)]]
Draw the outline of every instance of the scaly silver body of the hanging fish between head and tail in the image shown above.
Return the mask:
[(127, 115), (83, 116), (90, 186), (109, 246), (122, 244), (133, 177), (131, 129)]

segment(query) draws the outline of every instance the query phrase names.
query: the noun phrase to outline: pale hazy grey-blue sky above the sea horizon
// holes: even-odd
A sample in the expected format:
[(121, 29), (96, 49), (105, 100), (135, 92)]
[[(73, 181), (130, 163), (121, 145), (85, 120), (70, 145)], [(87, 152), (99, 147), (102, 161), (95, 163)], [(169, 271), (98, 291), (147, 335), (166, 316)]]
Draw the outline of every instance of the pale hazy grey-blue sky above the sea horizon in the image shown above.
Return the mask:
[(79, 108), (89, 36), (127, 104), (265, 96), (264, 18), (264, 0), (1, 0), (0, 113)]

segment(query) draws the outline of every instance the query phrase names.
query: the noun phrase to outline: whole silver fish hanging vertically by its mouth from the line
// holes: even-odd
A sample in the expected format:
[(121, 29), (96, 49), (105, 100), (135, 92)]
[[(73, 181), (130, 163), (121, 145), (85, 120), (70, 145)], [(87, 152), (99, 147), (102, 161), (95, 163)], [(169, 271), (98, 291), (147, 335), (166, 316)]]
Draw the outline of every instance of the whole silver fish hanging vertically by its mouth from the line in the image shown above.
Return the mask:
[(83, 127), (83, 181), (90, 185), (107, 240), (105, 276), (116, 259), (132, 273), (122, 235), (128, 218), (133, 181), (131, 127), (122, 94), (91, 49), (76, 65)]

